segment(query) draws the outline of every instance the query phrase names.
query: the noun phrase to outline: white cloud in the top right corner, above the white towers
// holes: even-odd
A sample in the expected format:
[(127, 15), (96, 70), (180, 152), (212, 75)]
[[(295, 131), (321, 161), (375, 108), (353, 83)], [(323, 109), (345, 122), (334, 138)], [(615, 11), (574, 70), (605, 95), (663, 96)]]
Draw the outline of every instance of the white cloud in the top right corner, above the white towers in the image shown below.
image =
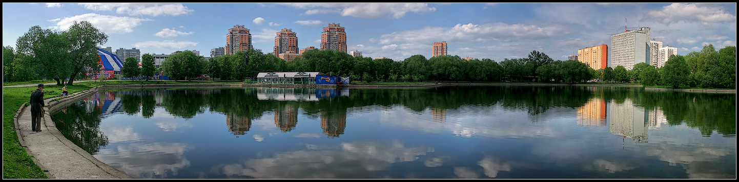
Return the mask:
[(646, 13), (664, 24), (678, 21), (698, 21), (704, 25), (736, 21), (736, 15), (726, 13), (721, 7), (699, 7), (696, 4), (675, 3)]

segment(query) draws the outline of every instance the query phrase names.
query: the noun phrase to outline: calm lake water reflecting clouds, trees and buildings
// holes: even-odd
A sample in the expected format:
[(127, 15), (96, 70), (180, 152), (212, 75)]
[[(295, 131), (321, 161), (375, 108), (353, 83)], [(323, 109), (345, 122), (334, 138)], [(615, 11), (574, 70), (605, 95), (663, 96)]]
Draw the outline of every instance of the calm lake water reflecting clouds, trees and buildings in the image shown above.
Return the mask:
[(100, 91), (54, 114), (134, 178), (736, 178), (736, 94), (575, 86)]

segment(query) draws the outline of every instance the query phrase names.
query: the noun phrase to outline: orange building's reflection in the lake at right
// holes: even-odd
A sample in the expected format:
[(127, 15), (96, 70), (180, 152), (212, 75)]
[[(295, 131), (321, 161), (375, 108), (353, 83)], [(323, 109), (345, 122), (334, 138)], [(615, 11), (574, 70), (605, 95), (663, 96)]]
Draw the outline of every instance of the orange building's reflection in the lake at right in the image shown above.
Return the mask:
[(585, 105), (577, 108), (577, 125), (583, 126), (605, 126), (606, 106), (605, 100), (593, 97)]

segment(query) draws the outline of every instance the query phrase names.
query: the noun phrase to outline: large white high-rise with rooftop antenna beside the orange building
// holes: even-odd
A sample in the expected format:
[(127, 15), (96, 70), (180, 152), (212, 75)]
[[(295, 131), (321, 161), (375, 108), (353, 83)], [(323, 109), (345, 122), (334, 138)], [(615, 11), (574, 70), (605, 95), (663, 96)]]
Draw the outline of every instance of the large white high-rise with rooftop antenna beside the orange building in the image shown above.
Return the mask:
[(649, 63), (650, 28), (627, 30), (610, 36), (610, 67), (631, 70), (637, 63)]

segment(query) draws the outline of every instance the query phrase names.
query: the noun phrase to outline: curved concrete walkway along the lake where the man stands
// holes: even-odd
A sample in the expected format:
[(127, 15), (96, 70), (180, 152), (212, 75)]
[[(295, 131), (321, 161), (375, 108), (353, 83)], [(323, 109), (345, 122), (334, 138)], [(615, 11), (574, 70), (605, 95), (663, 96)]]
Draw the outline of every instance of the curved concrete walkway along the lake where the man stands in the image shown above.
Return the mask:
[[(50, 100), (44, 100), (47, 106)], [(50, 108), (44, 108), (44, 111), (50, 111)], [(130, 175), (98, 161), (65, 138), (48, 114), (44, 113), (41, 119), (41, 132), (31, 131), (31, 107), (25, 104), (16, 111), (14, 120), (19, 143), (49, 178), (132, 179)]]

